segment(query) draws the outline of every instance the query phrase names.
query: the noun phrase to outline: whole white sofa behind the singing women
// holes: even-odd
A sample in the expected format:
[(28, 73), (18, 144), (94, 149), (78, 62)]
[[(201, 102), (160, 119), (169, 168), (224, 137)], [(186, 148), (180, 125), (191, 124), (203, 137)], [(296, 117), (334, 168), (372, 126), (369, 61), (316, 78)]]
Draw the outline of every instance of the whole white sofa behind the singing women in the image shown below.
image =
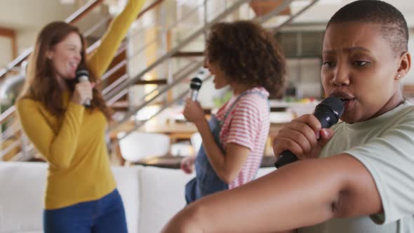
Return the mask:
[[(156, 233), (185, 206), (184, 186), (193, 176), (145, 166), (114, 167), (129, 233)], [(258, 176), (274, 171), (260, 168)], [(0, 162), (0, 233), (43, 232), (46, 164)]]

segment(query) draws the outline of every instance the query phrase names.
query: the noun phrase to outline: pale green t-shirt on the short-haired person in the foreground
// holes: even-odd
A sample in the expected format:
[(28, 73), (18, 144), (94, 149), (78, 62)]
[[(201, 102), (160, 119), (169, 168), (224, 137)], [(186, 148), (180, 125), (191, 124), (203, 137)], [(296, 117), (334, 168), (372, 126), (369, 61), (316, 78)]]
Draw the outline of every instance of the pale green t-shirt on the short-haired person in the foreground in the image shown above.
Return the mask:
[(335, 135), (321, 157), (346, 153), (361, 161), (375, 180), (384, 213), (328, 220), (299, 232), (413, 233), (414, 106), (406, 101), (375, 119), (342, 122), (333, 129)]

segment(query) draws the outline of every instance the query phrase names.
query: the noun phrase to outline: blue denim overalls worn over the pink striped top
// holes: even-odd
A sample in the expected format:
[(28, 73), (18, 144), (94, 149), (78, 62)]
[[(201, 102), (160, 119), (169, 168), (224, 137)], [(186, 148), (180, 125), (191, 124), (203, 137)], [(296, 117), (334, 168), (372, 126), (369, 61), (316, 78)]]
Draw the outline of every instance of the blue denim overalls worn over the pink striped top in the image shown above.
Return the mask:
[[(211, 115), (211, 119), (208, 121), (208, 126), (211, 133), (213, 134), (215, 143), (217, 143), (217, 145), (220, 147), (223, 154), (225, 154), (225, 150), (223, 149), (222, 143), (220, 142), (220, 131), (222, 124), (224, 124), (229, 113), (232, 112), (232, 109), (236, 105), (236, 102), (243, 95), (248, 94), (260, 95), (260, 97), (265, 98), (267, 102), (269, 102), (267, 96), (263, 95), (259, 91), (245, 91), (241, 93), (236, 100), (234, 100), (232, 106), (227, 110), (222, 121), (219, 121), (215, 115)], [(192, 201), (196, 201), (197, 199), (200, 199), (201, 197), (204, 197), (208, 194), (213, 194), (214, 192), (229, 189), (229, 185), (223, 182), (215, 173), (213, 167), (208, 161), (207, 154), (204, 150), (203, 145), (201, 145), (199, 149), (194, 164), (196, 167), (196, 177), (187, 182), (187, 185), (185, 185), (185, 200), (187, 201), (187, 204), (190, 204)]]

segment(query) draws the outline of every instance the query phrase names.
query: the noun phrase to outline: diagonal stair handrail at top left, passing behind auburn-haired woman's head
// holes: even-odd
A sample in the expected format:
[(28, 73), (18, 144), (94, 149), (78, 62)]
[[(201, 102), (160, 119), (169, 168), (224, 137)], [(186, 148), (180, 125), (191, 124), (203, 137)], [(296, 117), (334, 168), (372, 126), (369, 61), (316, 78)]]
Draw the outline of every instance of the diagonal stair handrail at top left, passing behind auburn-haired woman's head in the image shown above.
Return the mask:
[[(73, 24), (74, 22), (77, 22), (77, 21), (81, 20), (81, 18), (84, 18), (84, 16), (88, 12), (92, 11), (93, 8), (95, 8), (96, 6), (99, 6), (102, 3), (103, 3), (103, 0), (91, 0), (91, 1), (89, 1), (87, 4), (85, 4), (84, 6), (79, 8), (78, 11), (75, 11), (72, 15), (69, 15), (69, 17), (66, 18), (65, 22)], [(6, 65), (6, 68), (1, 69), (0, 70), (0, 79), (5, 74), (7, 74), (7, 72), (9, 72), (11, 69), (13, 69), (13, 67), (15, 67), (16, 65), (19, 65), (23, 60), (25, 60), (30, 55), (30, 53), (32, 53), (32, 51), (33, 51), (33, 47), (27, 48), (27, 50), (25, 50), (22, 54), (20, 54), (17, 58), (15, 58), (15, 60), (8, 63), (8, 65)]]

